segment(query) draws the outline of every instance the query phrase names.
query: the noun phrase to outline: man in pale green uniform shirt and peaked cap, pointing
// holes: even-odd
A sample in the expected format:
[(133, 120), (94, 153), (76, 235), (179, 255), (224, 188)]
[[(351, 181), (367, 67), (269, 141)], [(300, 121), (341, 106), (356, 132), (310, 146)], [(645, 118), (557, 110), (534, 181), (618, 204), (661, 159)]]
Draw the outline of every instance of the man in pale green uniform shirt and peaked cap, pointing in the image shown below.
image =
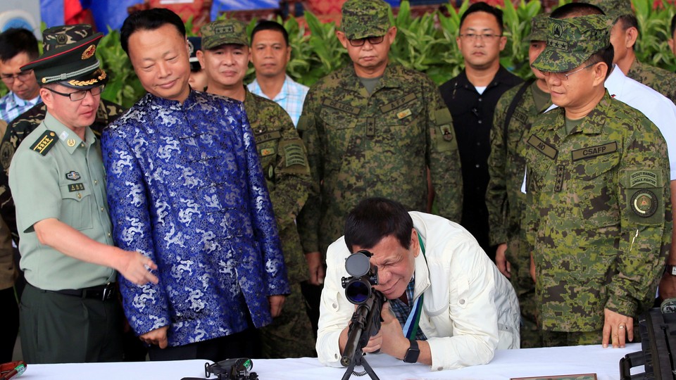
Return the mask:
[(47, 113), (9, 169), (27, 280), (20, 304), (23, 358), (120, 361), (116, 270), (143, 285), (158, 281), (149, 272), (156, 265), (113, 246), (101, 143), (89, 127), (108, 80), (95, 55), (103, 35), (64, 44), (68, 35), (50, 39), (51, 32), (45, 31), (44, 40), (60, 46), (21, 68), (35, 72)]

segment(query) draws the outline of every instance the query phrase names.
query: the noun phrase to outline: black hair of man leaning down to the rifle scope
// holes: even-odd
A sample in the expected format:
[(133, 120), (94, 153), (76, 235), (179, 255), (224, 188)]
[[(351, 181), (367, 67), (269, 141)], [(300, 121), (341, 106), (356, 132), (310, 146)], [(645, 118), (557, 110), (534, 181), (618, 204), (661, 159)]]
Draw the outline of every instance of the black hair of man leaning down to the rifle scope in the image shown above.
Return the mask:
[(411, 248), (413, 220), (399, 202), (387, 198), (367, 198), (359, 202), (345, 219), (345, 244), (373, 248), (383, 238), (394, 236), (403, 248)]

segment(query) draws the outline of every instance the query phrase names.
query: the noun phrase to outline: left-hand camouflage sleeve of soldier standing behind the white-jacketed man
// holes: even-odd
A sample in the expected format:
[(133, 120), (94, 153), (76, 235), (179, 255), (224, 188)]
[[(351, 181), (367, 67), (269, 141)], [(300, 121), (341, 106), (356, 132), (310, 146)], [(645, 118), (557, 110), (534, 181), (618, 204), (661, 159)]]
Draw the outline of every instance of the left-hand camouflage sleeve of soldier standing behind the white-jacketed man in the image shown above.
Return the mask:
[(303, 144), (308, 152), (308, 165), (310, 167), (312, 188), (308, 195), (308, 201), (298, 215), (296, 222), (301, 236), (301, 245), (305, 253), (319, 251), (319, 222), (321, 212), (320, 182), (322, 175), (322, 153), (315, 122), (315, 115), (319, 114), (320, 103), (315, 94), (315, 87), (308, 91), (303, 113), (298, 120), (298, 132), (303, 139)]

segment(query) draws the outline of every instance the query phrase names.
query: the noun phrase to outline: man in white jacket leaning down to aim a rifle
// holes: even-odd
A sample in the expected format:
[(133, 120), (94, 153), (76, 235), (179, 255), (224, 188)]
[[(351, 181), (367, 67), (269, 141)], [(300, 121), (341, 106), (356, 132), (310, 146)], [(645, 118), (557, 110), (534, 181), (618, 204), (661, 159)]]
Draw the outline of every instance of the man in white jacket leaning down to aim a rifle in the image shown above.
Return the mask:
[(388, 300), (365, 353), (380, 349), (442, 370), (485, 364), (496, 349), (519, 348), (514, 289), (469, 232), (442, 217), (408, 213), (395, 201), (368, 198), (350, 212), (345, 236), (327, 251), (316, 346), (323, 364), (340, 366), (355, 310), (341, 279), (349, 277), (345, 259), (358, 251), (372, 254), (374, 289)]

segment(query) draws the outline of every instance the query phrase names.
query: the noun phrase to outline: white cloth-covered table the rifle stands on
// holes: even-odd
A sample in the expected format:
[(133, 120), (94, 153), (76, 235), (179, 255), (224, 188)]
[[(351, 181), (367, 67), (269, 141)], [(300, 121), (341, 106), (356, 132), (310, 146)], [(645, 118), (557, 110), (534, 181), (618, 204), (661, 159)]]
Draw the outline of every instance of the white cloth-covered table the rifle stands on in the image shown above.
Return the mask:
[[(387, 355), (367, 355), (367, 360), (381, 380), (508, 380), (511, 377), (556, 374), (596, 373), (599, 380), (620, 378), (620, 358), (641, 350), (639, 343), (625, 348), (574, 346), (498, 350), (487, 365), (432, 372), (426, 365), (411, 365)], [(28, 365), (17, 380), (180, 380), (182, 377), (204, 378), (206, 360), (178, 362), (84, 363), (60, 365)], [(643, 367), (632, 373), (643, 372)], [(253, 372), (261, 380), (325, 380), (341, 379), (344, 368), (320, 365), (316, 358), (253, 360)], [(215, 377), (211, 377), (215, 379)], [(352, 376), (353, 380), (369, 380), (368, 375)]]

